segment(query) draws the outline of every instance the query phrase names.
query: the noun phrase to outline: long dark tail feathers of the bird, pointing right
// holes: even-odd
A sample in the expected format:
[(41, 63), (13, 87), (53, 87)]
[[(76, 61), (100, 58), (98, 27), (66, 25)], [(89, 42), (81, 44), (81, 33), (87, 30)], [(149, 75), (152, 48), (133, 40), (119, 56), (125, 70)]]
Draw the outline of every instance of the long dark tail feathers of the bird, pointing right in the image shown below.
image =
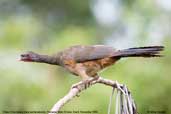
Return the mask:
[(113, 57), (161, 57), (164, 46), (148, 46), (124, 49), (116, 52)]

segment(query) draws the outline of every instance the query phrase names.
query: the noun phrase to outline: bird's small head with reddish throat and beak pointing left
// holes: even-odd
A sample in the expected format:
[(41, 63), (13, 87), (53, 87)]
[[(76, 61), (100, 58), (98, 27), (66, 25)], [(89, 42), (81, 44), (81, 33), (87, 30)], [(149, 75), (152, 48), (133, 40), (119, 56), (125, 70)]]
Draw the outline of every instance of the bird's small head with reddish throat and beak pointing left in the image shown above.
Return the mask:
[(40, 59), (39, 55), (32, 51), (20, 55), (20, 61), (24, 61), (24, 62), (37, 62), (39, 61), (39, 59)]

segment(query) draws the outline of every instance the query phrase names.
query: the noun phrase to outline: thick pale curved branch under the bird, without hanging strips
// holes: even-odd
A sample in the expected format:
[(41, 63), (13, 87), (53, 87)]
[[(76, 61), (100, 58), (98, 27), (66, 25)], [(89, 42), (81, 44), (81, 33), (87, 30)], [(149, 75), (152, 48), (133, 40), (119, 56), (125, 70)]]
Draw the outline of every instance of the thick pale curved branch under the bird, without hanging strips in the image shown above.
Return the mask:
[[(123, 94), (125, 94), (124, 90), (121, 88), (123, 87), (122, 84), (119, 84), (117, 81), (112, 81), (109, 79), (104, 79), (102, 77), (99, 77), (98, 79), (94, 80), (94, 78), (89, 79), (89, 81), (91, 82), (91, 85), (94, 85), (96, 83), (101, 83), (101, 84), (105, 84), (108, 86), (112, 86), (114, 88), (117, 88), (119, 91), (121, 91)], [(89, 86), (89, 87), (90, 87)], [(65, 95), (63, 98), (61, 98), (51, 109), (51, 111), (49, 112), (49, 114), (58, 114), (58, 111), (62, 108), (62, 106), (64, 106), (67, 102), (69, 102), (70, 100), (72, 100), (75, 96), (78, 96), (78, 94), (85, 90), (86, 86), (84, 83), (79, 82), (79, 84), (77, 85), (77, 87), (71, 88), (69, 93), (67, 95)]]

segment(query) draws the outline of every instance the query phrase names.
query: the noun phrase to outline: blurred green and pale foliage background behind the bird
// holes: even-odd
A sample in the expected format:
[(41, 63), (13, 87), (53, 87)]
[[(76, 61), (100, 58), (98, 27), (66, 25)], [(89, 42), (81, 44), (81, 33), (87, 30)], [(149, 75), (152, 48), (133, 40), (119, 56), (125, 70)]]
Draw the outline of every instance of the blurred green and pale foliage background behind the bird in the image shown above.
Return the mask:
[[(0, 1), (1, 111), (49, 110), (73, 83), (80, 80), (56, 66), (17, 61), (24, 51), (52, 54), (78, 44), (111, 45), (119, 38), (118, 45), (124, 47), (124, 42), (129, 44), (129, 37), (135, 37), (131, 39), (133, 45), (129, 46), (158, 45), (158, 41), (166, 47), (165, 56), (123, 59), (100, 75), (128, 85), (140, 114), (151, 110), (171, 113), (171, 35), (167, 31), (171, 30), (168, 21), (170, 11), (157, 7), (154, 0), (124, 0), (120, 3), (122, 14), (119, 21), (109, 27), (110, 24), (104, 26), (98, 23), (93, 13), (92, 4), (96, 5), (99, 1)], [(153, 27), (155, 23), (157, 28)], [(156, 36), (161, 36), (162, 40), (150, 39), (151, 30), (154, 34), (161, 32)], [(120, 37), (111, 38), (111, 34)], [(99, 114), (105, 114), (111, 90), (97, 84), (62, 110), (97, 110)]]

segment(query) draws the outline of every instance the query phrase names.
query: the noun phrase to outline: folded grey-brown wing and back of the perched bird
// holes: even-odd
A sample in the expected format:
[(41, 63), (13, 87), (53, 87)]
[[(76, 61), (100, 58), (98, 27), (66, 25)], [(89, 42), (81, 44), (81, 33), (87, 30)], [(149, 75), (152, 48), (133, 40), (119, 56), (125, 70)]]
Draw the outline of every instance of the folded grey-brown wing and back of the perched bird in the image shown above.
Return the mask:
[(112, 47), (104, 45), (77, 45), (65, 50), (65, 55), (76, 62), (85, 62), (110, 57), (114, 52), (115, 50)]

